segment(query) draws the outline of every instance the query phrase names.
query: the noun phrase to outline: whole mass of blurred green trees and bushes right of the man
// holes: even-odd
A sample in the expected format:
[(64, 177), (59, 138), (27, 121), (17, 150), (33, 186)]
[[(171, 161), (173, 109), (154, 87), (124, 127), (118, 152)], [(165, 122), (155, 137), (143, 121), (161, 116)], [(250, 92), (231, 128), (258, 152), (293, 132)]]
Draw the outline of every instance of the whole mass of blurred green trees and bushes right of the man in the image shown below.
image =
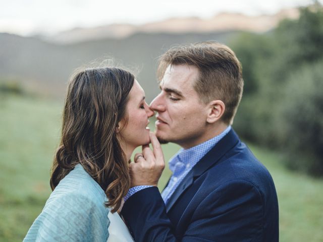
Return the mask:
[(300, 9), (272, 32), (232, 42), (245, 91), (234, 127), (246, 139), (283, 150), (290, 168), (323, 175), (323, 10)]

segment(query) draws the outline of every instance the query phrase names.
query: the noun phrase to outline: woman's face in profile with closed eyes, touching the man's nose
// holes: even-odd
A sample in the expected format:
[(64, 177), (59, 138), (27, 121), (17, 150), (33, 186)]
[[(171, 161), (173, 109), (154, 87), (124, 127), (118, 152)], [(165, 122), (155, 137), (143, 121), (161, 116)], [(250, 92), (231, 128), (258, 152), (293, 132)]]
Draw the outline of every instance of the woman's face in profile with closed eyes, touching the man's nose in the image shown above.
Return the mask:
[(150, 141), (149, 128), (147, 127), (149, 123), (148, 118), (154, 112), (145, 102), (145, 92), (137, 80), (134, 81), (130, 90), (126, 113), (128, 123), (125, 123), (124, 120), (119, 123), (123, 143), (127, 148), (148, 144)]

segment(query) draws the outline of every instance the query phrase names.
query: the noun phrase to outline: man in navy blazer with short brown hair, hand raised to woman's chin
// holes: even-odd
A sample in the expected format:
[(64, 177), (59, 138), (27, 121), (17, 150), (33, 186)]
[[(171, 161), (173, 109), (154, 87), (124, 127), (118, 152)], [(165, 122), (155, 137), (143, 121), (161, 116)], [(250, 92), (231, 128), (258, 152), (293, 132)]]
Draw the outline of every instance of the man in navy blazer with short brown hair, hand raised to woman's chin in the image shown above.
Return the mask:
[(273, 179), (231, 128), (243, 89), (234, 52), (216, 42), (177, 46), (161, 56), (158, 76), (156, 136), (183, 149), (161, 194), (163, 155), (153, 134), (153, 153), (143, 147), (130, 164), (122, 215), (135, 240), (278, 241)]

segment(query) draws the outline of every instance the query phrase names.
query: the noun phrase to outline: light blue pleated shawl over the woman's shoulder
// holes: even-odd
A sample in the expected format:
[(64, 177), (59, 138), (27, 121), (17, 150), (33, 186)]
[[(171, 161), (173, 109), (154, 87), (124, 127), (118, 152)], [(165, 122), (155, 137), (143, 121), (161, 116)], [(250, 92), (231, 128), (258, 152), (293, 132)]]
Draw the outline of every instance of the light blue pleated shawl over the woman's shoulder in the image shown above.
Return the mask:
[(101, 187), (78, 164), (51, 193), (23, 241), (105, 242), (110, 224), (105, 201)]

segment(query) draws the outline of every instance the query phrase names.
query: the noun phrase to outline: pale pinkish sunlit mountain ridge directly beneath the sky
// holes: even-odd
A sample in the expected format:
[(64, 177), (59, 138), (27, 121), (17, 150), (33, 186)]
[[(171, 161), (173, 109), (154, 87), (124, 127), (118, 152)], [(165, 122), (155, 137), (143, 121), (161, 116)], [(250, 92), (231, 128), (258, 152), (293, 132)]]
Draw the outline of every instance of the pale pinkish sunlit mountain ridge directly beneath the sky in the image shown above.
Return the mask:
[(45, 37), (54, 43), (76, 43), (88, 40), (122, 39), (135, 33), (209, 33), (228, 30), (266, 32), (277, 26), (284, 18), (296, 19), (298, 9), (285, 9), (274, 15), (247, 16), (235, 13), (221, 13), (209, 19), (172, 18), (143, 25), (111, 24), (93, 28), (75, 28), (53, 36)]

